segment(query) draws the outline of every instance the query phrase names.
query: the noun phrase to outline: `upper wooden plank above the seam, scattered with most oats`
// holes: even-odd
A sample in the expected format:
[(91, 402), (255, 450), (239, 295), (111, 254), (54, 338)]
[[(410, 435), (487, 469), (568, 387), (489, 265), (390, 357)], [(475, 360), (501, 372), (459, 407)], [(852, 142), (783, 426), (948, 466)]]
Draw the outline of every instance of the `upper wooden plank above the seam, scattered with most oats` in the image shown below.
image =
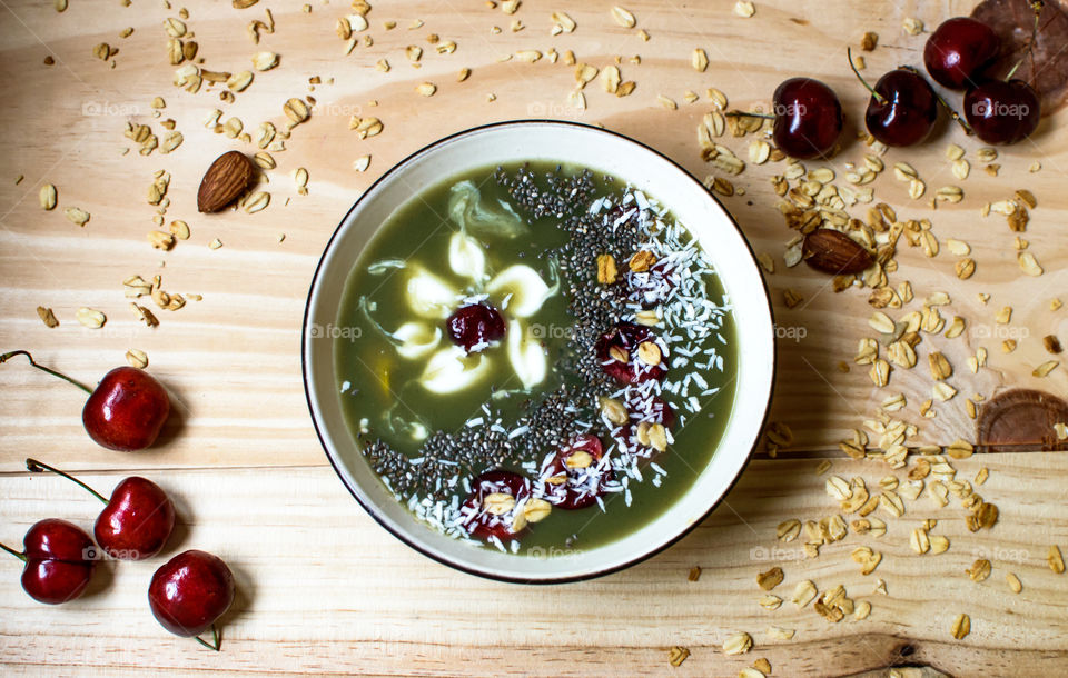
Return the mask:
[[(258, 17), (260, 10), (212, 11), (204, 3), (190, 9), (188, 23), (197, 32), (208, 67), (236, 69), (246, 63), (253, 46), (244, 36), (235, 39), (233, 33), (247, 18)], [(227, 116), (239, 116), (247, 128), (254, 129), (263, 119), (280, 120), (279, 102), (288, 96), (307, 93), (308, 76), (334, 77), (336, 81), (334, 86), (317, 88), (320, 111), (295, 130), (289, 150), (275, 153), (279, 169), (273, 172), (269, 186), (275, 193), (274, 203), (258, 215), (199, 216), (194, 211), (197, 182), (208, 161), (222, 150), (244, 144), (202, 128), (206, 113), (217, 104), (211, 94), (189, 94), (169, 84), (172, 68), (159, 58), (162, 38), (158, 22), (167, 16), (161, 8), (121, 14), (137, 30), (121, 41), (113, 71), (88, 59), (91, 46), (100, 40), (120, 43), (113, 36), (115, 21), (92, 12), (88, 3), (76, 4), (57, 16), (29, 0), (16, 2), (11, 11), (26, 26), (12, 21), (3, 29), (6, 48), (0, 82), (9, 89), (21, 89), (3, 113), (7, 123), (0, 126), (0, 143), (13, 149), (7, 164), (9, 173), (23, 173), (27, 179), (19, 186), (8, 181), (0, 185), (0, 209), (6, 213), (0, 232), (4, 243), (0, 249), (0, 269), (4, 271), (0, 345), (34, 348), (41, 360), (86, 381), (120, 363), (122, 353), (131, 346), (148, 351), (151, 369), (175, 393), (182, 422), (181, 435), (166, 436), (166, 445), (141, 456), (141, 462), (189, 467), (307, 465), (322, 460), (307, 435), (308, 417), (297, 378), (297, 328), (315, 259), (359, 191), (406, 153), (465, 127), (568, 112), (561, 108), (561, 102), (572, 87), (571, 68), (550, 64), (546, 59), (534, 64), (497, 63), (500, 54), (518, 48), (546, 50), (555, 46), (560, 50), (574, 49), (582, 60), (605, 66), (614, 53), (640, 53), (641, 66), (623, 66), (626, 77), (640, 83), (635, 94), (610, 97), (592, 83), (586, 88), (587, 110), (570, 113), (581, 121), (601, 122), (632, 134), (704, 177), (710, 168), (700, 160), (694, 142), (694, 129), (709, 110), (703, 90), (710, 84), (719, 87), (731, 97), (731, 106), (738, 108), (767, 103), (769, 93), (783, 77), (780, 70), (762, 66), (763, 54), (772, 44), (789, 62), (805, 64), (809, 74), (834, 86), (851, 111), (861, 108), (863, 90), (844, 68), (844, 58), (829, 46), (847, 37), (859, 37), (862, 29), (878, 28), (886, 49), (869, 56), (870, 72), (877, 72), (884, 63), (918, 60), (922, 44), (921, 40), (900, 33), (897, 27), (903, 10), (890, 3), (866, 14), (851, 9), (810, 13), (795, 3), (761, 3), (753, 20), (731, 14), (729, 3), (702, 4), (688, 9), (685, 14), (655, 3), (636, 3), (632, 10), (643, 17), (642, 26), (653, 36), (649, 42), (615, 27), (605, 7), (595, 4), (574, 12), (583, 29), (553, 40), (541, 32), (548, 12), (543, 16), (536, 7), (521, 12), (527, 17), (525, 22), (531, 29), (515, 36), (484, 38), (491, 26), (506, 24), (507, 17), (488, 11), (456, 14), (444, 6), (412, 6), (396, 14), (402, 28), (373, 29), (373, 49), (360, 48), (342, 59), (334, 57), (336, 52), (328, 51), (327, 58), (313, 56), (306, 49), (312, 42), (327, 41), (330, 49), (340, 50), (336, 38), (324, 34), (333, 30), (333, 20), (324, 17), (329, 13), (326, 8), (317, 8), (310, 16), (295, 7), (275, 10), (280, 28), (265, 38), (264, 47), (285, 54), (286, 67), (260, 73), (238, 103), (228, 107), (233, 110)], [(526, 14), (527, 10), (531, 13)], [(403, 30), (416, 17), (427, 28)], [(792, 19), (808, 23), (799, 26)], [(382, 14), (375, 19), (383, 20)], [(424, 68), (414, 70), (405, 64), (400, 51), (413, 40), (422, 40), (431, 27), (443, 37), (467, 36), (467, 40), (451, 56), (433, 54), (428, 49)], [(28, 31), (43, 36), (61, 63), (43, 67), (40, 60), (47, 50)], [(745, 31), (745, 38), (740, 39), (738, 31)], [(703, 74), (689, 67), (690, 50), (696, 46), (705, 47), (712, 61)], [(384, 54), (395, 63), (389, 73), (374, 70), (375, 61)], [(461, 67), (473, 68), (474, 74), (467, 82), (452, 82)], [(29, 72), (34, 74), (32, 79), (26, 77)], [(423, 80), (439, 83), (434, 98), (423, 100), (412, 91)], [(29, 81), (34, 87), (26, 87)], [(686, 89), (699, 92), (701, 101), (683, 104), (678, 111), (664, 110), (655, 101), (657, 93), (682, 101)], [(492, 103), (485, 101), (491, 91), (497, 96)], [(532, 98), (534, 91), (540, 93)], [(127, 119), (154, 122), (148, 102), (157, 94), (167, 100), (164, 117), (178, 121), (185, 143), (169, 156), (157, 152), (142, 158), (136, 151), (119, 156), (129, 146), (121, 136)], [(378, 106), (370, 106), (369, 101)], [(363, 142), (355, 140), (347, 129), (354, 113), (379, 117), (385, 132)], [(79, 120), (79, 124), (63, 122), (70, 119)], [(428, 120), (434, 123), (428, 124)], [(932, 346), (945, 350), (957, 371), (952, 382), (961, 389), (961, 396), (980, 392), (989, 397), (1009, 385), (1039, 385), (1055, 392), (1068, 390), (1068, 371), (1064, 369), (1045, 380), (1030, 377), (1030, 370), (1046, 358), (1040, 337), (1068, 330), (1068, 316), (1050, 313), (1045, 308), (1062, 287), (1058, 281), (1066, 268), (1062, 249), (1057, 247), (1058, 226), (1068, 209), (1068, 198), (1059, 188), (1062, 175), (1057, 170), (1068, 167), (1068, 146), (1062, 142), (1061, 127), (1047, 123), (1038, 146), (1002, 149), (1000, 178), (985, 176), (976, 163), (972, 177), (960, 182), (967, 190), (966, 200), (958, 206), (942, 205), (937, 212), (908, 200), (903, 186), (890, 172), (874, 185), (879, 199), (894, 206), (901, 218), (929, 216), (940, 238), (963, 238), (973, 247), (979, 272), (971, 280), (962, 282), (952, 276), (956, 258), (945, 247), (936, 259), (927, 259), (916, 249), (904, 251), (899, 257), (900, 270), (893, 277), (894, 281), (911, 281), (916, 290), (918, 300), (909, 310), (918, 308), (927, 295), (947, 291), (952, 303), (943, 308), (943, 315), (951, 318), (959, 313), (968, 320), (969, 329), (962, 338), (934, 338), (919, 351), (922, 368)], [(154, 129), (162, 132), (158, 122)], [(34, 140), (33, 152), (23, 142), (26, 139)], [(937, 183), (956, 181), (942, 158), (942, 149), (951, 140), (963, 143), (975, 162), (973, 152), (980, 144), (962, 140), (949, 127), (931, 143), (907, 152), (893, 151), (887, 160), (906, 159), (921, 168), (933, 190)], [(744, 156), (748, 141), (724, 142)], [(844, 163), (859, 161), (863, 151), (864, 147), (848, 143), (829, 164), (842, 175)], [(370, 171), (353, 171), (352, 161), (364, 152), (374, 157)], [(1044, 160), (1046, 170), (1029, 175), (1027, 166), (1035, 158)], [(307, 197), (297, 196), (291, 186), (288, 175), (297, 167), (310, 169)], [(154, 211), (136, 198), (147, 190), (152, 172), (164, 168), (174, 177), (167, 219), (186, 219), (194, 232), (190, 241), (179, 242), (167, 253), (152, 250), (145, 242), (145, 233), (152, 228), (149, 218)], [(890, 387), (882, 390), (872, 388), (867, 369), (853, 366), (849, 375), (838, 372), (839, 361), (851, 362), (857, 340), (871, 333), (866, 323), (870, 312), (864, 301), (867, 293), (857, 290), (835, 295), (825, 277), (805, 267), (785, 269), (782, 265), (782, 243), (792, 233), (781, 223), (768, 181), (779, 171), (781, 164), (750, 166), (734, 179), (746, 195), (725, 200), (754, 249), (779, 259), (777, 272), (768, 278), (779, 327), (793, 330), (794, 336), (804, 332), (800, 340), (783, 337), (779, 341), (780, 377), (773, 418), (791, 426), (800, 449), (829, 450), (844, 431), (870, 416), (888, 391), (900, 390), (912, 403), (911, 417), (923, 423), (923, 441), (945, 443), (958, 437), (969, 438), (971, 422), (963, 415), (962, 397), (939, 406), (934, 420), (922, 421), (916, 416), (916, 407), (930, 397), (930, 380), (922, 369), (913, 370), (914, 376), (897, 370)], [(93, 215), (88, 226), (79, 229), (63, 219), (59, 210), (40, 210), (36, 192), (46, 181), (59, 186), (61, 207), (79, 205)], [(1026, 233), (1031, 250), (1047, 270), (1038, 280), (1020, 273), (1011, 249), (1012, 235), (1001, 219), (977, 218), (985, 202), (1009, 197), (1024, 186), (1040, 202)], [(111, 199), (130, 193), (135, 199)], [(278, 233), (286, 233), (285, 242), (277, 242)], [(225, 245), (212, 251), (206, 245), (216, 237)], [(160, 261), (166, 261), (166, 268), (159, 268)], [(175, 313), (160, 311), (161, 327), (150, 330), (139, 326), (129, 312), (119, 281), (132, 273), (149, 277), (157, 272), (164, 277), (165, 289), (202, 293), (205, 300), (190, 302)], [(785, 289), (804, 297), (804, 303), (787, 309), (782, 305)], [(981, 291), (993, 295), (987, 306), (976, 299)], [(61, 326), (44, 328), (33, 313), (38, 305), (53, 308)], [(100, 308), (109, 317), (108, 325), (99, 331), (81, 328), (72, 317), (79, 306)], [(1016, 309), (1008, 327), (992, 321), (1002, 306)], [(1021, 339), (1016, 352), (1002, 356), (998, 349), (999, 333), (1008, 332), (1028, 336)], [(965, 360), (978, 346), (990, 351), (990, 366), (972, 378)], [(80, 400), (77, 392), (13, 366), (0, 370), (0, 385), (10, 393), (0, 408), (0, 425), (7, 431), (0, 445), (6, 450), (52, 443), (57, 450), (69, 453), (70, 459), (92, 462), (95, 468), (113, 465), (115, 456), (97, 449), (79, 430), (73, 418)], [(249, 440), (255, 440), (255, 445), (245, 443)], [(17, 456), (0, 456), (0, 468), (17, 467)]]

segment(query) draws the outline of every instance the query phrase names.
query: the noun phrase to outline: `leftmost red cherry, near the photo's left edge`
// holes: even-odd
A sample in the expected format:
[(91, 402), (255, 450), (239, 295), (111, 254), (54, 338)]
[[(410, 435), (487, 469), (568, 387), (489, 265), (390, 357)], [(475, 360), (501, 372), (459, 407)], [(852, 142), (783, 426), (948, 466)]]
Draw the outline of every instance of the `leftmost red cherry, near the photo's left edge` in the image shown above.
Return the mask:
[(22, 589), (33, 600), (60, 605), (81, 596), (96, 568), (96, 545), (80, 527), (58, 518), (33, 524), (22, 539), (23, 552), (0, 548), (26, 562)]

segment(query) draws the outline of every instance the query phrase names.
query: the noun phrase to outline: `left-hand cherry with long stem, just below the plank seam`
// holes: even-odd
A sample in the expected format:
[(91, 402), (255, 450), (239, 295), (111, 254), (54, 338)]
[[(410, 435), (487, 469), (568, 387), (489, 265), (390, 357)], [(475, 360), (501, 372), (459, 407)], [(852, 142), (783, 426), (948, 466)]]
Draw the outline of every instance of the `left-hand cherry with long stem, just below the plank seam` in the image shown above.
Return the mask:
[(36, 459), (27, 459), (26, 468), (36, 473), (51, 471), (62, 476), (106, 505), (92, 532), (97, 544), (111, 558), (151, 558), (162, 550), (175, 529), (174, 503), (151, 480), (138, 476), (126, 478), (111, 491), (111, 498), (106, 499), (78, 478)]

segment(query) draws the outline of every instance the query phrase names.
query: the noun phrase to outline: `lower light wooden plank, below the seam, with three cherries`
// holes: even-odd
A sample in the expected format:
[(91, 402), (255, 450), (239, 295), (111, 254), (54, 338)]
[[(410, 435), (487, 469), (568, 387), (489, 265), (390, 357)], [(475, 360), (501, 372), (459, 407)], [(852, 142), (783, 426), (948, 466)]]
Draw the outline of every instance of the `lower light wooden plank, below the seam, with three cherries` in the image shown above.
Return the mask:
[[(239, 596), (226, 618), (225, 648), (206, 652), (167, 635), (151, 618), (145, 589), (161, 558), (106, 562), (93, 594), (62, 608), (32, 604), (18, 589), (17, 562), (0, 577), (0, 657), (11, 664), (57, 667), (151, 666), (160, 670), (215, 667), (229, 671), (518, 675), (533, 666), (560, 675), (597, 675), (610, 667), (666, 671), (666, 648), (693, 655), (683, 675), (728, 675), (768, 657), (777, 675), (851, 675), (894, 661), (929, 664), (950, 675), (1028, 669), (1056, 672), (1068, 661), (1068, 621), (1059, 601), (1068, 578), (1045, 562), (1049, 544), (1068, 542), (1059, 509), (1064, 455), (987, 455), (958, 461), (970, 477), (990, 469), (981, 491), (1001, 505), (990, 531), (970, 534), (960, 509), (937, 510), (928, 498), (888, 520), (882, 538), (849, 536), (803, 559), (798, 542), (780, 544), (775, 526), (790, 517), (819, 519), (837, 511), (822, 491), (815, 462), (756, 461), (708, 520), (652, 560), (594, 581), (522, 587), (455, 572), (408, 549), (363, 514), (326, 468), (285, 472), (247, 470), (148, 471), (175, 497), (182, 528), (165, 554), (202, 548), (233, 567)], [(883, 475), (870, 462), (835, 461), (832, 472), (860, 475), (876, 487)], [(122, 473), (88, 473), (108, 489)], [(1020, 487), (1027, 492), (1019, 492)], [(89, 527), (99, 503), (60, 478), (0, 477), (2, 539), (11, 544), (34, 520), (56, 516)], [(956, 502), (955, 502), (956, 506)], [(949, 551), (917, 556), (908, 534), (927, 518), (949, 537)], [(848, 554), (862, 544), (884, 554), (861, 576)], [(963, 572), (977, 557), (993, 564), (981, 584)], [(692, 566), (703, 574), (686, 579)], [(788, 598), (770, 612), (755, 576), (780, 565)], [(1024, 582), (1013, 596), (1005, 574)], [(873, 592), (876, 579), (888, 595)], [(820, 590), (846, 586), (868, 600), (868, 620), (830, 624), (811, 605), (789, 602), (794, 585)], [(605, 606), (611, 612), (606, 614)], [(952, 618), (971, 616), (971, 635), (956, 641)], [(770, 626), (797, 629), (771, 640)], [(725, 657), (732, 632), (754, 638), (752, 652)], [(904, 646), (911, 654), (900, 657)], [(908, 650), (906, 650), (908, 651)]]

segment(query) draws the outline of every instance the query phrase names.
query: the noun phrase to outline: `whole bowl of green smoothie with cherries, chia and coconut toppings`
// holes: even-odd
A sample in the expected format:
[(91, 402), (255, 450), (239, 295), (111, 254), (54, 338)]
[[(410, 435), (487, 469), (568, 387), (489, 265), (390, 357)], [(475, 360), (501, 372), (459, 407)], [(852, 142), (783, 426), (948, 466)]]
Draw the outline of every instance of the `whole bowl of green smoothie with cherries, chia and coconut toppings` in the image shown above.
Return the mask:
[(338, 226), (305, 390), (342, 481), (459, 570), (563, 582), (650, 557), (741, 475), (774, 377), (768, 291), (678, 164), (583, 124), (437, 141)]

